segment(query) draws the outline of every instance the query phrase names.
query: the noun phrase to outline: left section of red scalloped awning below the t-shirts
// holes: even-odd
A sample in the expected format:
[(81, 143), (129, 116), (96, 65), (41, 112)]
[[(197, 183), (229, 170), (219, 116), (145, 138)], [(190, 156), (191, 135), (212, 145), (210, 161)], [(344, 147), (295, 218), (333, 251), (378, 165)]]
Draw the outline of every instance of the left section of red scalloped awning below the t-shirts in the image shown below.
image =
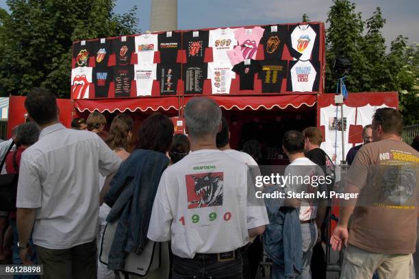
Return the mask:
[(134, 112), (141, 110), (177, 110), (179, 108), (178, 97), (151, 97), (151, 98), (127, 98), (127, 99), (77, 99), (74, 101), (74, 106), (79, 112), (88, 110), (92, 112), (99, 110), (99, 112), (124, 112), (129, 110)]

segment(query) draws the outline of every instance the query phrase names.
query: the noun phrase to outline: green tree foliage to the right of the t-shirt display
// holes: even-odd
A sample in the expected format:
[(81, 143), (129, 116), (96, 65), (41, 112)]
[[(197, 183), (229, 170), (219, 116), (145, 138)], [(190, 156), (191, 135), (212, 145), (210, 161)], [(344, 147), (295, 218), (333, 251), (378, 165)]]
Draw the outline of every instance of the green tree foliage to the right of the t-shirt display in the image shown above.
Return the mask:
[(325, 91), (335, 92), (338, 76), (331, 69), (335, 58), (348, 58), (352, 62), (345, 82), (348, 90), (398, 91), (405, 123), (419, 123), (418, 45), (409, 46), (407, 38), (398, 36), (386, 53), (381, 34), (385, 19), (380, 8), (363, 21), (361, 13), (355, 12), (355, 3), (333, 0), (327, 22)]

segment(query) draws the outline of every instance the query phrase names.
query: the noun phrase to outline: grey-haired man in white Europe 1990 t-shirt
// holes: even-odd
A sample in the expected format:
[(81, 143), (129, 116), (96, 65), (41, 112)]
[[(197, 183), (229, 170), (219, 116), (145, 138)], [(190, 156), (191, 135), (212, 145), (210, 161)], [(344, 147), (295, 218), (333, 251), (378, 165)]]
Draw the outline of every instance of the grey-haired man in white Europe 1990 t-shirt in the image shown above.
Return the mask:
[(242, 278), (239, 249), (264, 232), (266, 208), (248, 202), (246, 165), (216, 147), (218, 104), (191, 99), (185, 119), (192, 152), (164, 171), (148, 238), (172, 240), (173, 278)]

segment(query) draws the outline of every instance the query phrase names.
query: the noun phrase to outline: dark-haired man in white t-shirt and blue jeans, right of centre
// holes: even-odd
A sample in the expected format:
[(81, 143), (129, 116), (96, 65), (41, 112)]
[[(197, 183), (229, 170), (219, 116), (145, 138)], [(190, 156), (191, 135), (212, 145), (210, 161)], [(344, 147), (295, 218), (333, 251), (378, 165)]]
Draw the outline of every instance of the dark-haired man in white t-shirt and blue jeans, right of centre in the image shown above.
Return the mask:
[[(314, 176), (324, 176), (322, 169), (312, 160), (304, 155), (305, 138), (301, 132), (285, 132), (282, 141), (282, 147), (285, 154), (290, 159), (290, 165), (285, 168), (284, 175), (290, 175), (292, 182), (285, 184), (285, 193), (292, 191), (294, 193), (314, 193), (321, 192), (324, 185), (314, 182)], [(312, 183), (306, 182), (307, 175)], [(297, 178), (302, 177), (303, 180)], [(295, 178), (295, 180), (294, 180)], [(324, 190), (324, 189), (323, 189)], [(285, 199), (285, 206), (300, 208), (301, 236), (303, 241), (303, 267), (302, 274), (296, 278), (312, 278), (310, 263), (312, 262), (313, 247), (317, 240), (317, 208), (318, 201), (309, 199)], [(324, 217), (324, 216), (322, 216)]]

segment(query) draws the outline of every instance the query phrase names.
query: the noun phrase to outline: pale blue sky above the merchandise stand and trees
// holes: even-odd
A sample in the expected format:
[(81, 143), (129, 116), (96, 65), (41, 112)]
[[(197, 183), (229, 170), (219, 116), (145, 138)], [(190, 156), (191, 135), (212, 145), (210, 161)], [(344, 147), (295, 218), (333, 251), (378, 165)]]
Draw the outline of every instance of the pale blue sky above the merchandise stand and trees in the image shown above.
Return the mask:
[[(88, 1), (88, 0), (86, 0)], [(357, 12), (366, 20), (377, 6), (387, 23), (383, 28), (386, 44), (399, 34), (409, 43), (419, 43), (418, 0), (353, 0)], [(116, 0), (116, 13), (124, 13), (137, 5), (138, 27), (150, 27), (151, 0)], [(306, 13), (311, 21), (326, 21), (331, 0), (177, 0), (178, 29), (199, 29), (270, 23), (294, 23)], [(7, 8), (5, 0), (0, 7)], [(327, 27), (327, 25), (326, 25)], [(344, 36), (344, 35), (343, 35)]]

